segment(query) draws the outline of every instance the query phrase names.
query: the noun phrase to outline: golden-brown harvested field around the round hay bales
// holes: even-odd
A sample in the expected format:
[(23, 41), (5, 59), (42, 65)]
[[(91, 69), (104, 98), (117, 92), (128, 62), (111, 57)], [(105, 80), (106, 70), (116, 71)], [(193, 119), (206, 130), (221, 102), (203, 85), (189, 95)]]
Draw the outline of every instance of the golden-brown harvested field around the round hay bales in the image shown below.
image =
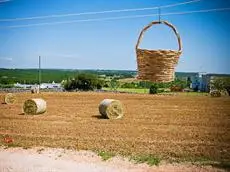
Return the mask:
[[(0, 94), (3, 98), (3, 93)], [(121, 155), (156, 155), (170, 161), (230, 162), (230, 98), (114, 93), (17, 93), (0, 104), (0, 145), (103, 150)], [(47, 101), (43, 115), (22, 113), (32, 97)], [(101, 119), (104, 98), (124, 104), (121, 120)]]

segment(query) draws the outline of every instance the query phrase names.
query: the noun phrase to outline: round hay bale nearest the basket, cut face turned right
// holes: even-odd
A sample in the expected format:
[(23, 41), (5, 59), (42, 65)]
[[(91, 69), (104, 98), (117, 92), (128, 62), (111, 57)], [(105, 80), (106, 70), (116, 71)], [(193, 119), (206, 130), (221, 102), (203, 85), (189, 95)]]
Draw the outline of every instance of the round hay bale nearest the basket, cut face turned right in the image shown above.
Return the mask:
[(119, 100), (104, 99), (99, 105), (99, 112), (104, 118), (108, 119), (123, 117), (123, 107)]

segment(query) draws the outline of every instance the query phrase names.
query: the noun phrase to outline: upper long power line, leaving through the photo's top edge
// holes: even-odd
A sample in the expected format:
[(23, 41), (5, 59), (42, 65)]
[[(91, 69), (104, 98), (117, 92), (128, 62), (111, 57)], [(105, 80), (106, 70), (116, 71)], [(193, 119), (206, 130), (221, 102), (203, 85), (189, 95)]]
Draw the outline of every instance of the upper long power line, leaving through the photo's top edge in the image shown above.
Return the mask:
[[(175, 3), (160, 6), (160, 8), (170, 8), (180, 5), (191, 4), (199, 2), (201, 0), (192, 0), (187, 2)], [(55, 14), (48, 16), (35, 16), (35, 17), (25, 17), (25, 18), (12, 18), (12, 19), (0, 19), (0, 22), (13, 22), (13, 21), (23, 21), (23, 20), (36, 20), (36, 19), (47, 19), (47, 18), (60, 18), (60, 17), (70, 17), (70, 16), (82, 16), (82, 15), (92, 15), (92, 14), (105, 14), (105, 13), (120, 13), (120, 12), (134, 12), (134, 11), (145, 11), (145, 10), (155, 10), (159, 7), (148, 7), (148, 8), (133, 8), (133, 9), (121, 9), (121, 10), (109, 10), (109, 11), (97, 11), (97, 12), (83, 12), (83, 13), (69, 13), (69, 14)]]

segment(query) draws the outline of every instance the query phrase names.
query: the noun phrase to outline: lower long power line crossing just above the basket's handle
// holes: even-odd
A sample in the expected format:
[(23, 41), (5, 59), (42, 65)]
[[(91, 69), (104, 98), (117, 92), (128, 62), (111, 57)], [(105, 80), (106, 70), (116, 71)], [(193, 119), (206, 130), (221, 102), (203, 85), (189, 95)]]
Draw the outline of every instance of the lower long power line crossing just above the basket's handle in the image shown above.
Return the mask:
[[(161, 16), (171, 16), (171, 15), (186, 15), (193, 13), (207, 13), (207, 12), (218, 12), (218, 11), (229, 11), (229, 8), (215, 8), (206, 10), (196, 10), (196, 11), (184, 11), (184, 12), (174, 12), (174, 13), (162, 13)], [(134, 19), (134, 18), (144, 18), (158, 16), (158, 14), (146, 14), (146, 15), (130, 15), (121, 17), (108, 17), (108, 18), (97, 18), (97, 19), (84, 19), (84, 20), (70, 20), (63, 22), (50, 22), (50, 23), (37, 23), (37, 24), (26, 24), (26, 25), (13, 25), (13, 26), (2, 26), (0, 29), (7, 28), (22, 28), (22, 27), (33, 27), (33, 26), (45, 26), (45, 25), (58, 25), (58, 24), (71, 24), (71, 23), (82, 23), (82, 22), (93, 22), (93, 21), (109, 21), (109, 20), (119, 20), (119, 19)]]

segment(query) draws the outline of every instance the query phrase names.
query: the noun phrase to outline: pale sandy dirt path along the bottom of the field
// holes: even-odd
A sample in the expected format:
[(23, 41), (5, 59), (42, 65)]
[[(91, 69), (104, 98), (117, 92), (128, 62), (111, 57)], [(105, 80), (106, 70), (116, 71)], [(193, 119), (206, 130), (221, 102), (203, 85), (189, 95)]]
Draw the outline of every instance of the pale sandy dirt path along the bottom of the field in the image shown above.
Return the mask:
[(148, 166), (134, 164), (126, 158), (114, 157), (102, 161), (91, 151), (71, 151), (50, 148), (0, 148), (0, 172), (141, 172), (141, 171), (224, 171), (212, 167), (198, 167), (188, 164), (161, 164)]

